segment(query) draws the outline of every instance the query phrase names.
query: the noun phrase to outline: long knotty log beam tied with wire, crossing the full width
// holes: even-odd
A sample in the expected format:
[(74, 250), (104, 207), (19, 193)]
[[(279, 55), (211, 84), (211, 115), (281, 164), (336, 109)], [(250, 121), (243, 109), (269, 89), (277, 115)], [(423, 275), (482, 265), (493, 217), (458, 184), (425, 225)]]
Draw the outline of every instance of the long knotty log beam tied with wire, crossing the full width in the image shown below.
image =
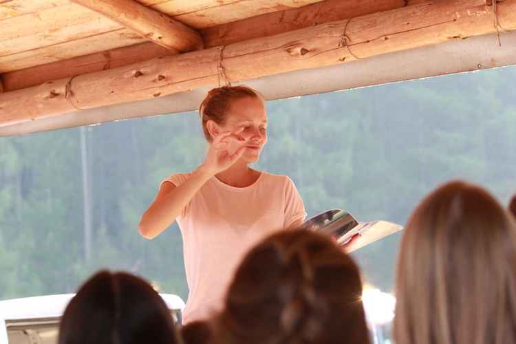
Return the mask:
[[(505, 30), (516, 28), (516, 0), (497, 4)], [(479, 0), (421, 3), (0, 94), (0, 125), (75, 109), (149, 99), (188, 89), (466, 39), (496, 32), (493, 8)], [(220, 76), (219, 66), (225, 72)]]

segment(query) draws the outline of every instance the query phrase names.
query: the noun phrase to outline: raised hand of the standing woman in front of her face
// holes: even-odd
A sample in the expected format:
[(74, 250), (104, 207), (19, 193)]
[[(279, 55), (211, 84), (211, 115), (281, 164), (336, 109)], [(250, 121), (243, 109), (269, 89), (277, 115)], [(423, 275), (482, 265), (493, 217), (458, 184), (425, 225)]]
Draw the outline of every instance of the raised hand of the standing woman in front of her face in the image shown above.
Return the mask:
[(233, 165), (246, 149), (244, 146), (246, 139), (238, 135), (243, 130), (244, 127), (240, 127), (235, 132), (224, 131), (215, 136), (202, 166), (215, 175)]

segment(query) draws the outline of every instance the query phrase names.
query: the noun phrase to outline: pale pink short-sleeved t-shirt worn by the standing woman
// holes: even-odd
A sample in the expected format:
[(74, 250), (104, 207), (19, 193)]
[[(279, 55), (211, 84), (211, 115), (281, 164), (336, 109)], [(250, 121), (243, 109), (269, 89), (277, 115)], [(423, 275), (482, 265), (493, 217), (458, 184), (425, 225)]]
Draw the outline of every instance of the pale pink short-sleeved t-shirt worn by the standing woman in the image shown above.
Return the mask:
[[(191, 173), (171, 175), (165, 182), (178, 186)], [(247, 250), (305, 216), (301, 197), (287, 176), (261, 172), (254, 184), (244, 188), (215, 177), (208, 180), (176, 219), (189, 286), (183, 323), (220, 310)]]

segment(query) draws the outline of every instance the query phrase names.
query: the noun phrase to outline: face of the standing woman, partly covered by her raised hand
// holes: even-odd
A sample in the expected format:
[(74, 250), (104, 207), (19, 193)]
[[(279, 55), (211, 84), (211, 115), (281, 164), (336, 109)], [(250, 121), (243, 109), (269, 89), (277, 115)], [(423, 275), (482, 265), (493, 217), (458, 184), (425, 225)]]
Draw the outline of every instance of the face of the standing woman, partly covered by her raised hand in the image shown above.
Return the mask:
[[(257, 98), (242, 98), (231, 101), (230, 111), (226, 115), (226, 123), (221, 126), (221, 131), (233, 131), (244, 138), (246, 147), (241, 159), (247, 163), (256, 162), (261, 149), (267, 142), (267, 113), (265, 104)], [(229, 147), (229, 153), (233, 153), (241, 143), (234, 142)]]

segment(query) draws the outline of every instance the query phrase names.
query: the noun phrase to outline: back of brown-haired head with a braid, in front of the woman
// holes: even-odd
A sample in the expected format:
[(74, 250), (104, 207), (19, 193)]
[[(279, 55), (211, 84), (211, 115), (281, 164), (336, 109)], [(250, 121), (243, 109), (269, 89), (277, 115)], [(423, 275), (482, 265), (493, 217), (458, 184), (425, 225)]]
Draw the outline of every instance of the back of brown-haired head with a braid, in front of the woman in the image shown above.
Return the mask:
[(216, 320), (220, 343), (369, 343), (351, 257), (309, 230), (271, 235), (239, 266)]

